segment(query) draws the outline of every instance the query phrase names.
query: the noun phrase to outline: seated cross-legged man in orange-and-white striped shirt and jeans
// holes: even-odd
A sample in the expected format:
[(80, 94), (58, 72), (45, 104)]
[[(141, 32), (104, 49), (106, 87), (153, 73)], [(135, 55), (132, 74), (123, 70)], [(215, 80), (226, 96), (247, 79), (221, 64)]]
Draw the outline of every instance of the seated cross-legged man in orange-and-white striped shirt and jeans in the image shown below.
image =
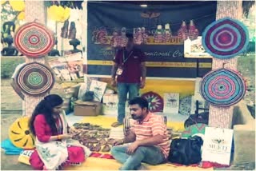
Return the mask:
[(115, 141), (114, 145), (118, 146), (111, 149), (113, 157), (123, 164), (120, 170), (142, 169), (141, 162), (151, 165), (165, 162), (170, 141), (163, 117), (150, 113), (148, 102), (142, 97), (130, 100), (129, 105), (134, 124), (130, 133), (124, 139)]

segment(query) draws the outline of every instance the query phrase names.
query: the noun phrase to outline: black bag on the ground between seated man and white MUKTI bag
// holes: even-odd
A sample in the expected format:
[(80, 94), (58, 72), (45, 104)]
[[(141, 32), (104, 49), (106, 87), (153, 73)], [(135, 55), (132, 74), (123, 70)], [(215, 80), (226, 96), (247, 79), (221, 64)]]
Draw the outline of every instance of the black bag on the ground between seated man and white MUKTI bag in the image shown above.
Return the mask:
[(182, 165), (198, 164), (202, 160), (202, 143), (202, 138), (198, 136), (173, 139), (168, 161)]

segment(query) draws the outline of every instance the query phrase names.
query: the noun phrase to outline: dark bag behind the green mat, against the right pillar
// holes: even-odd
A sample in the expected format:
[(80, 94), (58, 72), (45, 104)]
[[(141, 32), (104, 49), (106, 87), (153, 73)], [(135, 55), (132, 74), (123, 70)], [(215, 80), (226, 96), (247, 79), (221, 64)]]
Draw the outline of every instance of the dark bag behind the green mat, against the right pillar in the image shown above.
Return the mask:
[(187, 118), (186, 121), (184, 122), (184, 127), (187, 128), (190, 125), (199, 124), (199, 123), (208, 125), (208, 121), (209, 121), (209, 112), (191, 114), (190, 117)]

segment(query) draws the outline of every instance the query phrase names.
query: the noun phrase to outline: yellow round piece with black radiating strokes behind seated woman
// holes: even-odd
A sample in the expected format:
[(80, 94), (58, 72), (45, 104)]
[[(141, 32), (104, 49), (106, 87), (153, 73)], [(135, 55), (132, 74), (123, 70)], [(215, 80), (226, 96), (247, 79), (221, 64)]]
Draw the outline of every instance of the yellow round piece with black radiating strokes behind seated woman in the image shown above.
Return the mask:
[(30, 117), (18, 118), (9, 128), (10, 141), (19, 148), (33, 149), (34, 136), (28, 127)]

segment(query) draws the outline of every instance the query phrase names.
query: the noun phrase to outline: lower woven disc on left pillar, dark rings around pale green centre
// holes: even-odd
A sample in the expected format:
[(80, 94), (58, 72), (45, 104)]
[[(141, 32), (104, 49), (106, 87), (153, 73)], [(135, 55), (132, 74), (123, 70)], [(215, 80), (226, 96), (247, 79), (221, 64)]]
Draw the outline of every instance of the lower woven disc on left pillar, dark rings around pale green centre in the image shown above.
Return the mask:
[(46, 66), (32, 62), (22, 66), (15, 81), (24, 93), (38, 95), (53, 87), (54, 74)]

